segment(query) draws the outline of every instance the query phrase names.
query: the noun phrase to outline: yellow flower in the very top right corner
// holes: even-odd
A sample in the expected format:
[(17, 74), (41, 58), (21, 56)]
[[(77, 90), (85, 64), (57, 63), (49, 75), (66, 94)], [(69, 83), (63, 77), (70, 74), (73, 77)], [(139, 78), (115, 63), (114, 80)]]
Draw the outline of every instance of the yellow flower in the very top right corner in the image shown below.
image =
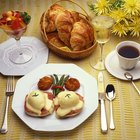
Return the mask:
[(124, 0), (124, 10), (128, 14), (139, 14), (140, 13), (140, 0)]

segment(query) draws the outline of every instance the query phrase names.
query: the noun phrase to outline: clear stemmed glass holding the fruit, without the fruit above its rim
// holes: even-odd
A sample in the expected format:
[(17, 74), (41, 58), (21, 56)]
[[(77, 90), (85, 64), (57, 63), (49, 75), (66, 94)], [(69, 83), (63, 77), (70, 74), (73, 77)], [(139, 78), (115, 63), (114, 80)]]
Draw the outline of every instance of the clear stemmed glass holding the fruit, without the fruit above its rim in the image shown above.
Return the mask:
[(13, 37), (16, 40), (16, 47), (9, 53), (9, 60), (15, 64), (24, 64), (32, 59), (32, 51), (28, 46), (22, 46), (20, 43), (21, 36), (26, 31), (27, 25), (14, 30), (3, 29), (7, 35)]

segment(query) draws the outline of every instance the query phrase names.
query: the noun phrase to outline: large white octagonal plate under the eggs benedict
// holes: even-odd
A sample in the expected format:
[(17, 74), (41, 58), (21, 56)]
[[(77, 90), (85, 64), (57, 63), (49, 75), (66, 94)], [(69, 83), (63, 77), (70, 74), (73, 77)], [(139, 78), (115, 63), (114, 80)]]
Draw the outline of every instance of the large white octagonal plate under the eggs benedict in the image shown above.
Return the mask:
[[(80, 81), (80, 89), (77, 91), (84, 96), (83, 111), (67, 119), (58, 119), (55, 112), (45, 118), (34, 118), (25, 114), (24, 99), (33, 89), (37, 88), (37, 82), (45, 75), (69, 74)], [(37, 131), (67, 131), (72, 130), (84, 122), (98, 107), (97, 81), (74, 64), (44, 64), (26, 74), (18, 80), (12, 101), (13, 111), (31, 129)]]

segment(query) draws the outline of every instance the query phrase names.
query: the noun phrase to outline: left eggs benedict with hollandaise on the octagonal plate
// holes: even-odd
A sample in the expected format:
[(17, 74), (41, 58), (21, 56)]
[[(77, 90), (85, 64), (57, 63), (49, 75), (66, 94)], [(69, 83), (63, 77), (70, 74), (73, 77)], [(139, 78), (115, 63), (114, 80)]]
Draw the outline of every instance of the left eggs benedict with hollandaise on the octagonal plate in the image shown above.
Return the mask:
[(45, 117), (54, 111), (53, 94), (34, 90), (25, 97), (26, 114), (34, 117)]

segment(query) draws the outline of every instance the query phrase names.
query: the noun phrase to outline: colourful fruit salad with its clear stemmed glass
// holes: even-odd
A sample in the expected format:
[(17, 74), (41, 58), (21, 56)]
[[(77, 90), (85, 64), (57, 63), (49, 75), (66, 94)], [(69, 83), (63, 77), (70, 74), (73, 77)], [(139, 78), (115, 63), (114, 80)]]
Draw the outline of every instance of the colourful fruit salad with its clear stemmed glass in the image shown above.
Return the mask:
[(24, 64), (32, 59), (32, 50), (22, 46), (20, 39), (27, 29), (31, 16), (27, 12), (7, 11), (2, 13), (0, 28), (16, 40), (16, 47), (9, 53), (9, 60), (15, 64)]

